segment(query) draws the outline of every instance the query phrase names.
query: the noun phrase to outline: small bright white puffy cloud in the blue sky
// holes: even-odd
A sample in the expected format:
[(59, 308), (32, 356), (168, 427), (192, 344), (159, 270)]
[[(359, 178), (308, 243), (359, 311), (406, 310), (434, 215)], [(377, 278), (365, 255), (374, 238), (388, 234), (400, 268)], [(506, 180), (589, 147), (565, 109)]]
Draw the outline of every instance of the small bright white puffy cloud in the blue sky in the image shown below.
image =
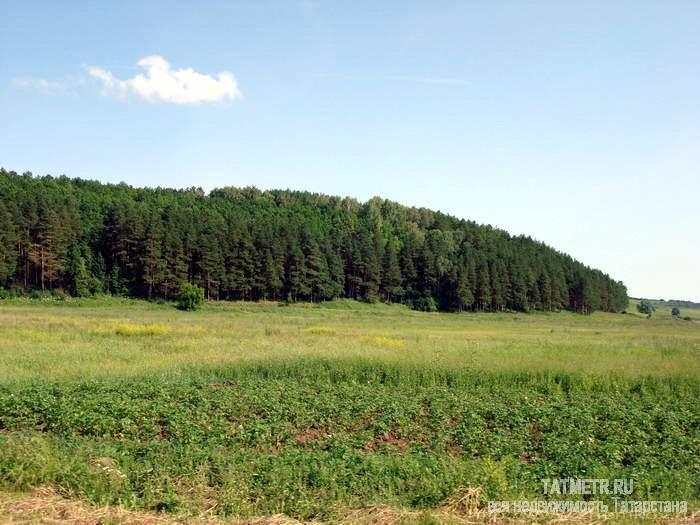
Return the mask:
[(120, 98), (132, 94), (151, 102), (201, 104), (241, 97), (236, 78), (228, 71), (214, 76), (197, 73), (192, 68), (171, 69), (170, 64), (158, 55), (142, 58), (137, 65), (145, 70), (145, 74), (126, 80), (101, 67), (89, 67), (88, 73), (102, 82), (103, 94)]

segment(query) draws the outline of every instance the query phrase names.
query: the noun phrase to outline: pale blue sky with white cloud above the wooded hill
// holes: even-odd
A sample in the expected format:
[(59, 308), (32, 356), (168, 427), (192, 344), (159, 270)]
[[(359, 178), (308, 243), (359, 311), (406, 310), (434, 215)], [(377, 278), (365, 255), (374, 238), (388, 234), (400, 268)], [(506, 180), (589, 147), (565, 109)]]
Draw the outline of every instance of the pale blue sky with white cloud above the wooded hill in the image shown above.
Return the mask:
[(0, 11), (7, 169), (380, 195), (700, 300), (698, 2)]

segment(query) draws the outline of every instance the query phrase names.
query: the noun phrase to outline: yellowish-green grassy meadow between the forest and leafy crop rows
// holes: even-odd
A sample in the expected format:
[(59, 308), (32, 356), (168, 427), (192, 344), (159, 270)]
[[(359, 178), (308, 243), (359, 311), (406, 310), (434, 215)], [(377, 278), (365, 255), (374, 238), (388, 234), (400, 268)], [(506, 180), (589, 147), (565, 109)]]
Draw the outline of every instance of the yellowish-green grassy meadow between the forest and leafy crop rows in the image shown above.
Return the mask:
[(0, 306), (2, 383), (181, 374), (311, 357), (436, 372), (697, 378), (699, 350), (697, 322), (633, 314), (426, 314), (351, 301), (214, 303), (200, 312), (107, 299)]

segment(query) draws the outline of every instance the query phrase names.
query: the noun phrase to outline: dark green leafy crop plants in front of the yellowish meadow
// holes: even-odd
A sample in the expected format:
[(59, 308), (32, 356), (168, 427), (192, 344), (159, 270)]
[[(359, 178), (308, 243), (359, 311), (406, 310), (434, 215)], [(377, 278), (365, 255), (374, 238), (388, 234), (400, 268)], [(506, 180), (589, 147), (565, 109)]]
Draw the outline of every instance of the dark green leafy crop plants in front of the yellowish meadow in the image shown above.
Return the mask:
[(300, 520), (348, 506), (438, 507), (467, 486), (489, 499), (541, 498), (548, 477), (633, 478), (645, 498), (700, 499), (688, 481), (695, 380), (429, 379), (379, 363), (328, 365), (3, 388), (2, 488)]

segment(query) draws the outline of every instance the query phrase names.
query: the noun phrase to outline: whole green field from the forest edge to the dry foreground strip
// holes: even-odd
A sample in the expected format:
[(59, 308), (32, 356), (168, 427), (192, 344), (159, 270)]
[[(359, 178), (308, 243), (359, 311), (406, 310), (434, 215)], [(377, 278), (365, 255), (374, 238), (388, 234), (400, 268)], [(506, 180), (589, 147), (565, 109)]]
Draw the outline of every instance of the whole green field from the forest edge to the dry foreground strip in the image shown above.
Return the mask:
[(180, 517), (463, 523), (465, 501), (558, 477), (697, 511), (700, 322), (628, 311), (2, 301), (0, 520), (40, 487)]

